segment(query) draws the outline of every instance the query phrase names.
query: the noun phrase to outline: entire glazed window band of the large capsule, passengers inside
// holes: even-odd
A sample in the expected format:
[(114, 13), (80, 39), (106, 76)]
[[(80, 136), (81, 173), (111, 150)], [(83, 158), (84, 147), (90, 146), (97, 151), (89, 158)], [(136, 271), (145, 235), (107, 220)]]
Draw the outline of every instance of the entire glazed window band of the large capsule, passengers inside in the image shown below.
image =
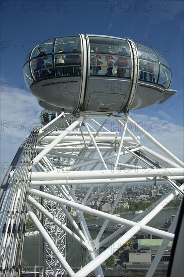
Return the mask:
[[(48, 78), (81, 75), (83, 53), (81, 54), (80, 39), (76, 37), (70, 40), (66, 37), (65, 43), (63, 41), (65, 38), (52, 39), (41, 43), (31, 51), (30, 59), (26, 59), (24, 65), (24, 75), (29, 86)], [(89, 37), (89, 46), (91, 47), (90, 74), (101, 75), (105, 78), (108, 76), (113, 78), (133, 76), (133, 74), (131, 75), (134, 66), (132, 56), (135, 55), (134, 52), (130, 53), (130, 46), (126, 40), (115, 39), (114, 41), (113, 38), (98, 37), (94, 39), (94, 37)], [(139, 54), (139, 80), (158, 83), (158, 85), (168, 88), (171, 71), (165, 59), (153, 49), (143, 47), (142, 44), (138, 43), (136, 47)], [(84, 60), (84, 64), (87, 62)], [(83, 69), (86, 70), (86, 68)]]

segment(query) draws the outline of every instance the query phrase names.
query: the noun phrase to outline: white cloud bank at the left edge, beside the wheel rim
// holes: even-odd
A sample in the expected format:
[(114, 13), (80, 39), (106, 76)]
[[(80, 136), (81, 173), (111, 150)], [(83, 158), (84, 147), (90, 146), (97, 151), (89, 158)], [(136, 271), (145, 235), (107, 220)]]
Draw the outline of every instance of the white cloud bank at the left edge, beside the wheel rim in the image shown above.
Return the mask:
[(33, 127), (41, 125), (42, 110), (31, 92), (22, 90), (21, 84), (12, 88), (11, 82), (1, 77), (1, 178)]

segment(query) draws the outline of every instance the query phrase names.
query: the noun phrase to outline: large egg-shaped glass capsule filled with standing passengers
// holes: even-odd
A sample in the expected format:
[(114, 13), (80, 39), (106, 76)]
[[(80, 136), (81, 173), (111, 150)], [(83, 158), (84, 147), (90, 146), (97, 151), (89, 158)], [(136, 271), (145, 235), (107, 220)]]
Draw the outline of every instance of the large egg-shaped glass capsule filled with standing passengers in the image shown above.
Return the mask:
[(125, 113), (176, 93), (169, 89), (170, 67), (158, 52), (102, 35), (40, 43), (26, 58), (24, 78), (42, 103), (67, 111)]

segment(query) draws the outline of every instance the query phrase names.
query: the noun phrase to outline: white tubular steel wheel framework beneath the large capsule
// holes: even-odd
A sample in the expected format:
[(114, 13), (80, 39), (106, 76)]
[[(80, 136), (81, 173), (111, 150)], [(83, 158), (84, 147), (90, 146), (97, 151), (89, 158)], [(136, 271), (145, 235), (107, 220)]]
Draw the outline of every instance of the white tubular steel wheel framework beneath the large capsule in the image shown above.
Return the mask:
[[(25, 217), (28, 213), (44, 240), (45, 276), (81, 277), (93, 271), (95, 276), (104, 276), (101, 265), (138, 231), (163, 238), (160, 251), (147, 273), (152, 276), (168, 242), (174, 239), (178, 213), (168, 232), (149, 227), (147, 223), (166, 203), (178, 194), (183, 196), (183, 163), (129, 115), (121, 117), (116, 114), (62, 112), (49, 124), (38, 128), (31, 147), (34, 155), (25, 151), (25, 166), (21, 168), (19, 182), (17, 175), (22, 152), (17, 154), (17, 166), (9, 169), (8, 177), (3, 181), (7, 188), (1, 198), (2, 203), (6, 203), (1, 216), (2, 275), (20, 274), (22, 248), (19, 247), (17, 261), (11, 245), (18, 245), (20, 239), (23, 241)], [(170, 185), (170, 192), (133, 220), (113, 215), (127, 185), (140, 182), (157, 184), (163, 181)], [(81, 185), (87, 185), (89, 189), (83, 202), (79, 203), (76, 192)], [(109, 185), (120, 185), (110, 212), (104, 213), (90, 207), (90, 203)], [(12, 196), (15, 189), (17, 197), (20, 196), (19, 204), (17, 198)], [(38, 202), (38, 196), (41, 197), (41, 202)], [(76, 210), (76, 221), (72, 218), (70, 209)], [(36, 216), (38, 212), (42, 214), (42, 223)], [(95, 239), (91, 238), (84, 213), (104, 220)], [(109, 221), (121, 224), (122, 227), (103, 239)], [(124, 234), (119, 236), (122, 232)], [(86, 264), (77, 272), (67, 261), (67, 236), (80, 244), (81, 249), (86, 249)], [(100, 247), (112, 240), (114, 242), (99, 254)]]

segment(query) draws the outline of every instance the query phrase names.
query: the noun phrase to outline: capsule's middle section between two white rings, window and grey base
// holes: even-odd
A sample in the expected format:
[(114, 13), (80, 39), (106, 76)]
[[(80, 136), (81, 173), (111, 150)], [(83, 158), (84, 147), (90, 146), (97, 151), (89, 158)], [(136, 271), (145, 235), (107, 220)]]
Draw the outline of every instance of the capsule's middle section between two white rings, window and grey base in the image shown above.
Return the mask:
[[(89, 35), (85, 111), (117, 112), (131, 90), (131, 56), (124, 39)], [(122, 52), (122, 49), (125, 52)]]

